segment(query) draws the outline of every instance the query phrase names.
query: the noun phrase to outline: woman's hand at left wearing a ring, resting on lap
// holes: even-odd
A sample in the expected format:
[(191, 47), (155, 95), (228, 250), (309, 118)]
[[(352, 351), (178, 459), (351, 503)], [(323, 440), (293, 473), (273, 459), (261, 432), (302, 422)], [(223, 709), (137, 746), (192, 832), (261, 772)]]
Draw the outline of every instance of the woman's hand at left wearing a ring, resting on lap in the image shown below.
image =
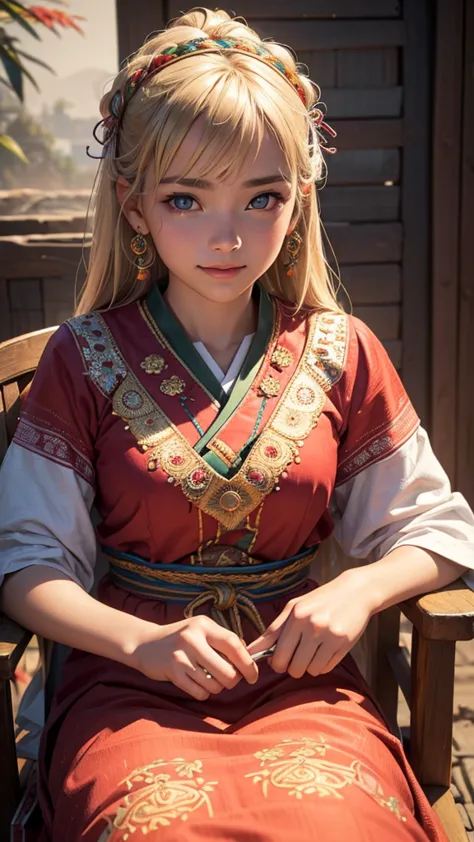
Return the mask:
[(242, 677), (249, 684), (258, 678), (258, 668), (244, 643), (210, 617), (147, 625), (150, 628), (138, 643), (134, 665), (148, 678), (171, 681), (199, 701), (224, 688), (231, 690)]

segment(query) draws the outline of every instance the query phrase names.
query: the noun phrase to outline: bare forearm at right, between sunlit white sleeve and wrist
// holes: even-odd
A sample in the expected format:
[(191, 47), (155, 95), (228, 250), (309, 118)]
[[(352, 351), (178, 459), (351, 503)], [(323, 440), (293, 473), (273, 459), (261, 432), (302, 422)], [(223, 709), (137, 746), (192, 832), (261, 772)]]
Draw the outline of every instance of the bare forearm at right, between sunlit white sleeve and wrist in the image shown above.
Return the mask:
[(372, 613), (454, 582), (465, 568), (437, 553), (404, 545), (380, 561), (347, 571), (370, 595)]

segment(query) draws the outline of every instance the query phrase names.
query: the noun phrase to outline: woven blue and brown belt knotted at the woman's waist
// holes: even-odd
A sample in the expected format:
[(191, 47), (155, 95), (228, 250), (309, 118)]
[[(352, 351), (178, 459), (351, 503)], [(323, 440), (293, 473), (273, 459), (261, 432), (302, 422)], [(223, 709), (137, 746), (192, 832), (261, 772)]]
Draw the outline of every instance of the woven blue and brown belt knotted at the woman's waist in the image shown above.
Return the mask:
[[(255, 602), (291, 593), (306, 581), (318, 547), (291, 558), (259, 563), (248, 556), (248, 564), (206, 567), (190, 564), (153, 564), (128, 553), (102, 548), (110, 563), (115, 583), (144, 596), (185, 605), (184, 616), (211, 602), (211, 615), (222, 626), (243, 637), (240, 612), (262, 634), (265, 624)], [(230, 623), (224, 615), (228, 613)]]

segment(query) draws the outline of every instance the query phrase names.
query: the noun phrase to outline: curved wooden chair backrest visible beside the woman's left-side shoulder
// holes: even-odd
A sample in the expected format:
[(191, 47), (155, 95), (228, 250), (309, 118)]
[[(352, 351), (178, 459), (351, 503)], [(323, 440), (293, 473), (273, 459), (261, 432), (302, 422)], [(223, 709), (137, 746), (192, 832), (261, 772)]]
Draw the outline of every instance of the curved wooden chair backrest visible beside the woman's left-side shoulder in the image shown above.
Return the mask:
[(15, 433), (21, 402), (28, 394), (41, 354), (56, 330), (47, 327), (0, 342), (0, 463)]

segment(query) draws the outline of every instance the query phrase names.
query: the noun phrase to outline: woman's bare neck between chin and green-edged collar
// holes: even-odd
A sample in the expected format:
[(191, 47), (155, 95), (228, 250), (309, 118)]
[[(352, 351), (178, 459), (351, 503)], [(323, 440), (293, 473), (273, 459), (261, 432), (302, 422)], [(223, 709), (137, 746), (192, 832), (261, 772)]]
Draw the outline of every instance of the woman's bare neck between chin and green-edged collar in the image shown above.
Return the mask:
[(234, 301), (216, 302), (170, 279), (163, 298), (191, 341), (202, 342), (213, 356), (235, 352), (244, 336), (256, 330), (258, 310), (251, 287)]

